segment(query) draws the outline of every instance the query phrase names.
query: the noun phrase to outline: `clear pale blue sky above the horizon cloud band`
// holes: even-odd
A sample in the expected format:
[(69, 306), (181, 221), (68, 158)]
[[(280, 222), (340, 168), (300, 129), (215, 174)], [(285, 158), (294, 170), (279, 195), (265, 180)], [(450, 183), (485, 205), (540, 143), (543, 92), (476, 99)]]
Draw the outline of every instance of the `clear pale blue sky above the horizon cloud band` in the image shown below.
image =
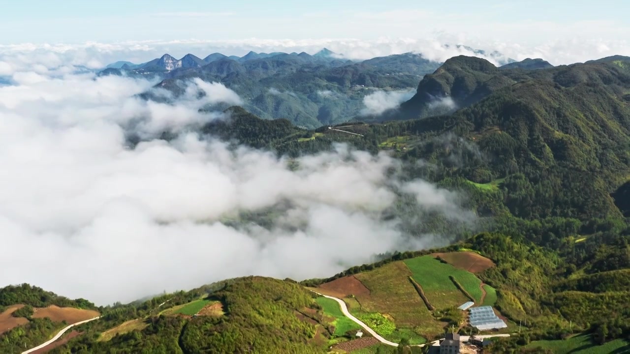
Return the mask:
[(626, 39), (626, 0), (0, 0), (0, 43), (379, 37)]

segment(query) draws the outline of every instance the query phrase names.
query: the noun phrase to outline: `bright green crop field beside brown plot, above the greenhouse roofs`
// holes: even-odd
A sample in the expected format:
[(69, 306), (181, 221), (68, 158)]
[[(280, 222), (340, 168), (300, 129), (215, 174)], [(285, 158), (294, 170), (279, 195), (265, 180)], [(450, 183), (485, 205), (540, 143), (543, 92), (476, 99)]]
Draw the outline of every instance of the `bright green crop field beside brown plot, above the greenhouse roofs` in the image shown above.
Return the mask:
[(450, 280), (452, 275), (476, 302), (481, 300), (481, 280), (465, 270), (442, 263), (432, 256), (421, 256), (404, 260), (412, 277), (420, 283), (429, 302), (437, 308), (459, 306), (468, 299)]

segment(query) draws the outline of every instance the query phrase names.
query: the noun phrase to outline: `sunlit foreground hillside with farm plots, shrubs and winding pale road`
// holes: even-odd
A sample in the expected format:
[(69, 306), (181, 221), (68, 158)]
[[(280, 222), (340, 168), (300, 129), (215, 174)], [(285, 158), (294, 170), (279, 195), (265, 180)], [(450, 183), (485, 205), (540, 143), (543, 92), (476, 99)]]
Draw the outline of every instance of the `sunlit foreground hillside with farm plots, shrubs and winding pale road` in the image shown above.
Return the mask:
[[(624, 239), (626, 244), (618, 247), (627, 254), (630, 230)], [(329, 346), (337, 353), (392, 352), (370, 336), (355, 339), (357, 324), (335, 302), (309, 289), (343, 299), (355, 317), (394, 343), (421, 345), (442, 338), (452, 328), (477, 333), (465, 312), (455, 309), (472, 297), (474, 306), (495, 307), (508, 324), (502, 333), (515, 333), (518, 322), (527, 321), (520, 335), (494, 341), (493, 353), (529, 341), (552, 345), (572, 333), (582, 333), (581, 345), (593, 349), (600, 343), (617, 348), (630, 345), (623, 339), (630, 335), (630, 307), (625, 301), (630, 290), (624, 286), (630, 264), (583, 275), (609, 256), (593, 248), (581, 249), (586, 261), (561, 257), (518, 237), (484, 233), (448, 248), (397, 253), (301, 284), (289, 279), (236, 278), (145, 302), (100, 307), (100, 319), (79, 326), (75, 334), (55, 343), (50, 353), (323, 353)], [(592, 283), (597, 288), (589, 288)], [(616, 316), (604, 315), (611, 311)], [(3, 353), (19, 352), (25, 340), (34, 346), (60, 329), (47, 319), (44, 324), (49, 327), (35, 329), (41, 320), (30, 321), (0, 334)], [(602, 326), (608, 329), (606, 334), (601, 334)]]

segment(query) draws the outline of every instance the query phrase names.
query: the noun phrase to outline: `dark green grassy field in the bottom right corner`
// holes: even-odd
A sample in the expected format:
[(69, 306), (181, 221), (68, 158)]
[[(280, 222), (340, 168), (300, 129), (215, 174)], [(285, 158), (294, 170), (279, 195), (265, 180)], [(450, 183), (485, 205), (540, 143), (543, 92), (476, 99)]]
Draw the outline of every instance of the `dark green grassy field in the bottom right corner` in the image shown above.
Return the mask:
[(630, 342), (614, 340), (604, 345), (596, 345), (588, 334), (580, 334), (566, 340), (532, 341), (528, 348), (545, 348), (556, 354), (605, 354), (605, 353), (630, 353)]

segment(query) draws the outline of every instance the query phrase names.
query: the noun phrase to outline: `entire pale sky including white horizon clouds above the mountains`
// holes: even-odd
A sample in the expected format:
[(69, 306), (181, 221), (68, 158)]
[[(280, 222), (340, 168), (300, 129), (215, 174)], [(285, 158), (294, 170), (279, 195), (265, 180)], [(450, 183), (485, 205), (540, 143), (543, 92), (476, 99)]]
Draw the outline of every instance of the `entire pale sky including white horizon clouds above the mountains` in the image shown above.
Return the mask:
[(0, 0), (0, 5), (0, 61), (3, 54), (45, 51), (98, 67), (117, 60), (146, 62), (164, 53), (314, 54), (323, 47), (359, 60), (404, 52), (437, 61), (469, 55), (444, 50), (445, 43), (498, 50), (516, 60), (542, 57), (554, 65), (630, 55), (630, 3), (623, 0)]

